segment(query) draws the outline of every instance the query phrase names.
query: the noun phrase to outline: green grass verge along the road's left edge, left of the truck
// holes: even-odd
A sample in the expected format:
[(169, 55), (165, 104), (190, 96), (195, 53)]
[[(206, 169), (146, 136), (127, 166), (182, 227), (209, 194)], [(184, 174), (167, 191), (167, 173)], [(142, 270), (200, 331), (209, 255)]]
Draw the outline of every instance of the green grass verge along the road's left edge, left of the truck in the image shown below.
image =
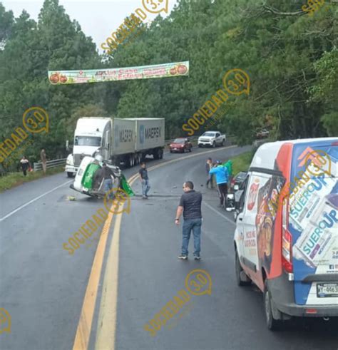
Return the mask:
[[(47, 169), (46, 176), (54, 175), (56, 173), (61, 173), (64, 171), (64, 165), (61, 165), (56, 168)], [(0, 193), (6, 190), (9, 190), (12, 187), (16, 187), (22, 185), (24, 182), (29, 182), (33, 180), (40, 179), (41, 177), (45, 177), (42, 171), (33, 171), (31, 173), (27, 173), (24, 176), (23, 173), (9, 173), (6, 176), (0, 177)]]

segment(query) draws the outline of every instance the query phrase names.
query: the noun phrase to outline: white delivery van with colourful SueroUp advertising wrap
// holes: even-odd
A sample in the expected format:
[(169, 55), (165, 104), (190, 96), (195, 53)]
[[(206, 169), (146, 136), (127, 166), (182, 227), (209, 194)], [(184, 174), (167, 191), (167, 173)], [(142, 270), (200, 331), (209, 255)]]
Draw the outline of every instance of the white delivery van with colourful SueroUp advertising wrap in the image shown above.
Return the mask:
[(338, 138), (265, 143), (236, 194), (237, 284), (264, 293), (267, 326), (338, 316)]

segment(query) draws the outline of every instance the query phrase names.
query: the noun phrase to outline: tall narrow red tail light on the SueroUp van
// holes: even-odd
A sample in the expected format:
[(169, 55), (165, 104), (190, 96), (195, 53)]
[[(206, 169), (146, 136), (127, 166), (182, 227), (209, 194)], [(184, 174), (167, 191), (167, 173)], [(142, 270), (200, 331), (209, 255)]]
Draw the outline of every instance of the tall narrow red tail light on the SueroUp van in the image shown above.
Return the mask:
[(282, 266), (285, 272), (292, 273), (292, 235), (287, 230), (288, 226), (288, 209), (289, 209), (289, 199), (283, 199), (285, 203), (282, 209)]

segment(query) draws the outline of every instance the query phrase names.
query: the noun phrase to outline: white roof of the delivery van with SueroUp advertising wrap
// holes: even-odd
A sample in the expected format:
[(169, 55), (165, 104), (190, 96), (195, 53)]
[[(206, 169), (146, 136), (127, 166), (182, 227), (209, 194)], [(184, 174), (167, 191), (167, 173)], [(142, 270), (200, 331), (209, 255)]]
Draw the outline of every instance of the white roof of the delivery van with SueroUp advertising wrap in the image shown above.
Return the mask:
[(338, 138), (302, 138), (297, 140), (284, 140), (276, 141), (270, 143), (264, 143), (257, 149), (254, 158), (252, 159), (250, 168), (264, 168), (274, 170), (275, 160), (280, 148), (285, 143), (292, 145), (300, 145), (302, 143), (308, 143), (309, 145), (314, 143), (320, 143), (324, 141), (325, 143), (337, 142)]

